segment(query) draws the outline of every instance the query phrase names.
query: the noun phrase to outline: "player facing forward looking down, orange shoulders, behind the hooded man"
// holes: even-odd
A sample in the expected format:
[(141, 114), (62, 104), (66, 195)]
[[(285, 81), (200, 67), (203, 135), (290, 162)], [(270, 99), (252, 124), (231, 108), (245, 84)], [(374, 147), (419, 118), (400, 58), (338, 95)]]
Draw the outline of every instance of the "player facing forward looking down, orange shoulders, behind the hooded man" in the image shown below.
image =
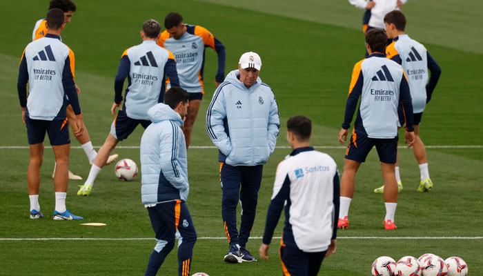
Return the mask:
[[(205, 48), (210, 47), (217, 52), (218, 71), (215, 76), (215, 86), (218, 87), (225, 79), (225, 46), (205, 28), (184, 24), (183, 17), (177, 12), (171, 12), (166, 16), (164, 27), (166, 30), (161, 33), (157, 43), (175, 55), (180, 87), (190, 93), (188, 116), (184, 126), (181, 126), (186, 137), (186, 148), (188, 148), (193, 124), (204, 95)], [(168, 83), (169, 87), (170, 83)]]

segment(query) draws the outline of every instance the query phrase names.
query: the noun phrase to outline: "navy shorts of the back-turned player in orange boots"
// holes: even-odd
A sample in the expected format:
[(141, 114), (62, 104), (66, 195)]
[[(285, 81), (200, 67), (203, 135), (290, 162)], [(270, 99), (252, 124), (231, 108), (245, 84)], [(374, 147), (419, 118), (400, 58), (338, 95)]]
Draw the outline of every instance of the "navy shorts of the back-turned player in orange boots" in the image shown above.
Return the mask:
[(398, 139), (398, 136), (393, 139), (375, 139), (353, 133), (347, 146), (346, 159), (364, 162), (373, 146), (375, 146), (379, 160), (382, 163), (395, 164)]

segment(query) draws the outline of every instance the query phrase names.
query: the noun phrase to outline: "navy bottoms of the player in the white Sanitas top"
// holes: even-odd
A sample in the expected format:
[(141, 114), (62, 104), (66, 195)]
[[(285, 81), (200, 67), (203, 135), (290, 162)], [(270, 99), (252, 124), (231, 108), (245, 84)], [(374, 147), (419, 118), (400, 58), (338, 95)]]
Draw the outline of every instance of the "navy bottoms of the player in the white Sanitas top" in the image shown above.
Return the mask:
[(300, 250), (295, 244), (293, 233), (284, 229), (279, 250), (280, 259), (282, 259), (282, 271), (284, 275), (315, 276), (319, 273), (326, 252), (327, 250), (307, 253)]

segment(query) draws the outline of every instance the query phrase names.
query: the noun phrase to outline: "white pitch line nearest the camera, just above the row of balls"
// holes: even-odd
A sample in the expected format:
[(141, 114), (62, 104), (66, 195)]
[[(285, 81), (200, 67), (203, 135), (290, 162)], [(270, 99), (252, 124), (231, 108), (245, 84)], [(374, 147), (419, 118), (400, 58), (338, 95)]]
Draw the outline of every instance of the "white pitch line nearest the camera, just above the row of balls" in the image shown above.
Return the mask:
[[(44, 237), (44, 238), (0, 238), (0, 241), (140, 241), (154, 240), (152, 237)], [(198, 239), (226, 239), (226, 237), (198, 237)], [(262, 237), (250, 237), (249, 239), (262, 239)], [(282, 237), (273, 237), (282, 239)], [(483, 239), (483, 237), (337, 237), (337, 239)]]

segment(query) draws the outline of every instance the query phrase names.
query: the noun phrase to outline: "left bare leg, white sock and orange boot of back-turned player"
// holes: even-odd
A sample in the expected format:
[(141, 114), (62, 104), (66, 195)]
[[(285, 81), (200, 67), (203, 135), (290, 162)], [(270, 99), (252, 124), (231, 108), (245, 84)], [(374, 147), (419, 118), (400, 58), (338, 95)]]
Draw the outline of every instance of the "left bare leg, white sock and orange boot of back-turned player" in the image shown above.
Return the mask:
[(361, 166), (361, 162), (345, 159), (344, 173), (340, 181), (340, 210), (337, 228), (348, 228), (348, 212), (355, 190), (355, 173)]

